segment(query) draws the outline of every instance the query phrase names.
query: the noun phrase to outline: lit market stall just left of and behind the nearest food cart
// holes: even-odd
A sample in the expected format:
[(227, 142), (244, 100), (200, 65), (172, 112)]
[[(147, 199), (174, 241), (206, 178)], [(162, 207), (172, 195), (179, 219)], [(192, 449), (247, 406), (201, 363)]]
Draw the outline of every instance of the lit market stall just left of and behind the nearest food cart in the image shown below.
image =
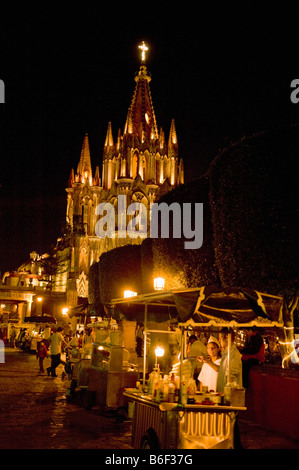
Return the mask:
[[(73, 315), (82, 316), (81, 309)], [(125, 387), (132, 387), (138, 379), (137, 368), (128, 361), (129, 353), (123, 346), (122, 331), (111, 318), (90, 321), (90, 312), (85, 312), (84, 326), (92, 330), (89, 337), (83, 335), (80, 349), (73, 348), (70, 355), (71, 377), (67, 397), (80, 393), (85, 409), (96, 405), (119, 409), (127, 405), (123, 396)], [(88, 341), (85, 341), (87, 340)]]

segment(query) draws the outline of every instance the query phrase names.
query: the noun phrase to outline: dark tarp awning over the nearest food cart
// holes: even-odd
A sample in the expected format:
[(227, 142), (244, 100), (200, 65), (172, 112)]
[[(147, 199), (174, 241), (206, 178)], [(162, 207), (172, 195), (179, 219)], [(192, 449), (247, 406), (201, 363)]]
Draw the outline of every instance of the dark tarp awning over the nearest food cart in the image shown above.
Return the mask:
[(155, 292), (112, 301), (112, 316), (142, 321), (147, 305), (148, 321), (179, 322), (202, 326), (278, 326), (287, 311), (282, 297), (247, 288), (198, 288)]

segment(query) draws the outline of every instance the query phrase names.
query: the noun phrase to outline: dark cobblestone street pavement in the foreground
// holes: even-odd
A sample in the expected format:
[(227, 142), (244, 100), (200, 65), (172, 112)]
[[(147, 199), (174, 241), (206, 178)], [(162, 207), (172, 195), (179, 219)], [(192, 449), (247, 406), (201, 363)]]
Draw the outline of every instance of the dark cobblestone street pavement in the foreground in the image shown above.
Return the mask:
[[(57, 378), (38, 369), (35, 355), (5, 350), (5, 363), (0, 363), (1, 449), (132, 449), (130, 420), (67, 403), (63, 366)], [(241, 416), (239, 428), (244, 449), (299, 448), (298, 441), (242, 421)]]

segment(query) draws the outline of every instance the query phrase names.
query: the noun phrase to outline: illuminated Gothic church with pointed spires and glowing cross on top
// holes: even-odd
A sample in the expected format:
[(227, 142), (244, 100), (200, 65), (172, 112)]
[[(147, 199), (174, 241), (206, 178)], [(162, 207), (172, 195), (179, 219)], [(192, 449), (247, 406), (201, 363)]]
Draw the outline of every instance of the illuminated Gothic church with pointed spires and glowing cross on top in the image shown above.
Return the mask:
[(149, 215), (151, 203), (184, 183), (175, 121), (170, 123), (167, 140), (156, 121), (149, 86), (151, 75), (145, 66), (148, 47), (143, 42), (139, 49), (141, 65), (134, 77), (136, 84), (123, 132), (118, 130), (114, 138), (112, 124), (108, 123), (101, 174), (99, 165), (94, 173), (92, 171), (87, 134), (77, 169), (70, 172), (66, 188), (66, 231), (57, 245), (58, 269), (54, 281), (54, 290), (66, 291), (69, 307), (77, 305), (80, 298), (88, 298), (89, 268), (102, 253), (128, 243), (142, 242), (140, 237), (132, 238), (120, 232), (124, 221), (120, 223), (117, 216), (113, 235), (98, 237), (97, 206), (112, 204), (117, 214), (118, 197), (123, 196), (127, 207), (133, 202), (141, 202)]

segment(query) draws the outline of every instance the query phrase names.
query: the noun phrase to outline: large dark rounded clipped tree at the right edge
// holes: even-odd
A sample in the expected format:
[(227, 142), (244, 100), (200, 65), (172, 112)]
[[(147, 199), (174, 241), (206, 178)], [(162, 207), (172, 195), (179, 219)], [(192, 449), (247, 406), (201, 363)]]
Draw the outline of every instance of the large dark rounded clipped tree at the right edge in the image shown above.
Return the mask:
[(216, 263), (223, 286), (282, 293), (298, 282), (299, 126), (243, 138), (210, 167)]

